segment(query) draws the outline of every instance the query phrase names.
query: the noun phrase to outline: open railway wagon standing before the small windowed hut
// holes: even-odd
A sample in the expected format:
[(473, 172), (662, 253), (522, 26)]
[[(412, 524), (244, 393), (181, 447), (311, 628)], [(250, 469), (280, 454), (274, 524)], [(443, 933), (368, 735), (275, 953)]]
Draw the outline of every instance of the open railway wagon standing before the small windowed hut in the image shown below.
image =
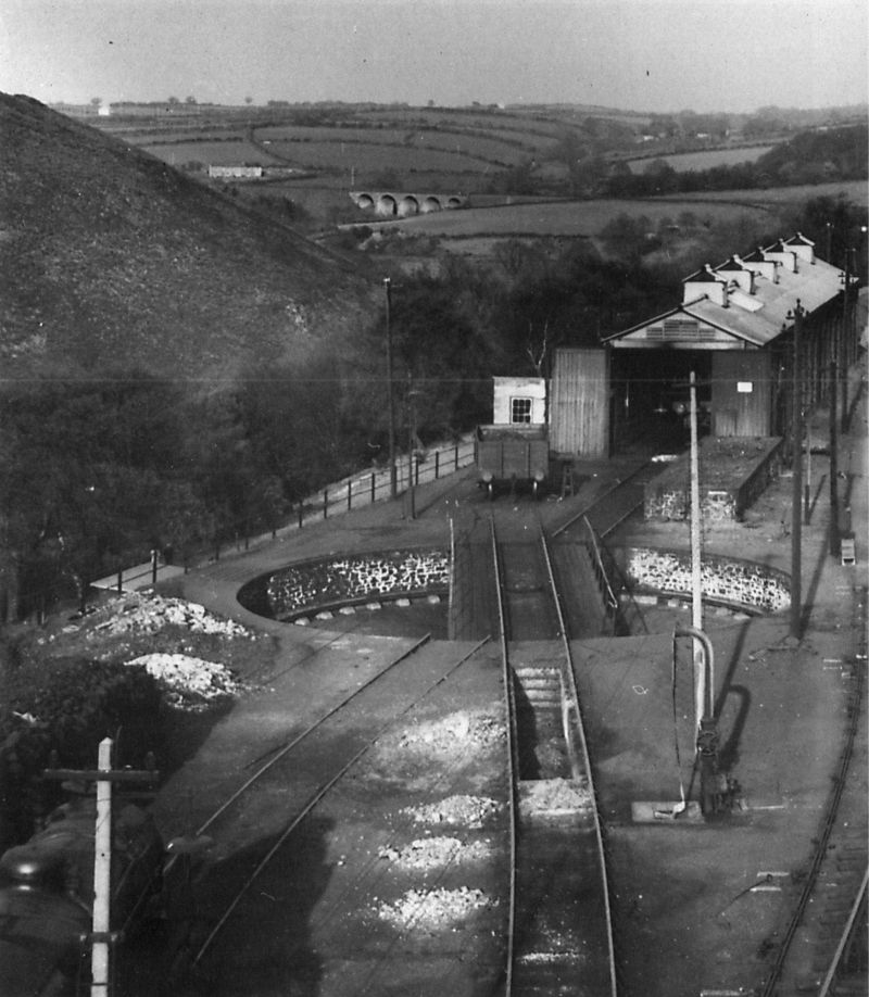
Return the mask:
[(493, 498), (499, 488), (530, 488), (534, 497), (550, 477), (550, 441), (545, 426), (477, 427), (479, 484)]

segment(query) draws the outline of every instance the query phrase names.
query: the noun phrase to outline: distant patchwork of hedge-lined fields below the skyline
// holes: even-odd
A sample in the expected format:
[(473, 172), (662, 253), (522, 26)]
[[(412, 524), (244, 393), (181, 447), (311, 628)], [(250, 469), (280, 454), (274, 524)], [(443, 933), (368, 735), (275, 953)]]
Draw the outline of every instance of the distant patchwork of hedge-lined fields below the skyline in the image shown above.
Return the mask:
[[(763, 223), (783, 207), (814, 197), (836, 197), (841, 192), (858, 204), (867, 203), (866, 184), (855, 182), (698, 192), (641, 201), (529, 203), (534, 199), (502, 194), (500, 206), (492, 206), (490, 195), (494, 191), (509, 190), (509, 181), (504, 180), (507, 173), (531, 162), (538, 185), (549, 182), (552, 190), (559, 189), (558, 185), (564, 189), (567, 164), (557, 159), (557, 146), (569, 138), (577, 149), (588, 148), (590, 118), (608, 118), (610, 124), (618, 121), (633, 129), (633, 134), (614, 132), (613, 153), (632, 155), (639, 151), (637, 138), (645, 119), (637, 115), (619, 117), (605, 109), (260, 108), (252, 109), (250, 116), (219, 118), (212, 114), (200, 122), (178, 121), (175, 126), (165, 118), (150, 125), (141, 119), (109, 119), (106, 128), (172, 165), (285, 164), (315, 174), (238, 185), (243, 198), (293, 202), (311, 217), (310, 227), (354, 220), (381, 227), (381, 219), (361, 212), (354, 215), (348, 197), (352, 189), (395, 187), (417, 193), (466, 194), (470, 199), (467, 210), (386, 223), (407, 235), (437, 239), (444, 249), (455, 251), (462, 242), (463, 253), (474, 245), (491, 248), (496, 240), (507, 238), (595, 238), (622, 214), (645, 216), (650, 228), (663, 220), (678, 219), (682, 212), (692, 212), (709, 226), (747, 215), (764, 227)], [(753, 161), (769, 148), (766, 144), (662, 157), (678, 171), (700, 171)], [(629, 163), (633, 171), (642, 172), (651, 161), (631, 159)]]

